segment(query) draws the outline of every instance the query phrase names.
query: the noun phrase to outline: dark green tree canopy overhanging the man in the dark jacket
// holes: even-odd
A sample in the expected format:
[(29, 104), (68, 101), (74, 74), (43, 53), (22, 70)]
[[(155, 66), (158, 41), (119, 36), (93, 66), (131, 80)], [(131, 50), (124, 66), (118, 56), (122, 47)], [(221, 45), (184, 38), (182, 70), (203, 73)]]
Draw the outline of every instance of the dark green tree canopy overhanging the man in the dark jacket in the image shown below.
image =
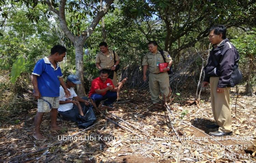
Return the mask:
[[(145, 21), (148, 17), (161, 19), (162, 32), (165, 33), (164, 49), (174, 56), (204, 39), (214, 24), (224, 24), (229, 28), (253, 26), (256, 22), (256, 4), (251, 0), (124, 0), (120, 4), (129, 22), (134, 19)], [(177, 47), (173, 46), (175, 42), (178, 42)]]

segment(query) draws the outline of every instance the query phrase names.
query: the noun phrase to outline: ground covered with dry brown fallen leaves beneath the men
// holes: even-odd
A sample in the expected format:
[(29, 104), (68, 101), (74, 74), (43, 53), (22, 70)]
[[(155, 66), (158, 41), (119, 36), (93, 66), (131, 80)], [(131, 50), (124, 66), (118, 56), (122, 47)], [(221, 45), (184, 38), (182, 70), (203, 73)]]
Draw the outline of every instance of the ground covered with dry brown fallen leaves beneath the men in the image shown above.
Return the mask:
[[(207, 89), (202, 91), (199, 108), (185, 105), (185, 101), (194, 99), (191, 96), (194, 92), (172, 95), (172, 114), (165, 106), (152, 105), (149, 92), (123, 89), (115, 108), (108, 111), (141, 130), (102, 113), (133, 133), (99, 113), (96, 125), (88, 130), (58, 119), (64, 129), (51, 131), (50, 117), (46, 114), (41, 131), (47, 140), (36, 141), (32, 132), (37, 108), (24, 108), (9, 121), (1, 120), (0, 162), (256, 162), (256, 97), (240, 92), (235, 114), (237, 95), (235, 88), (231, 89), (233, 135), (220, 138), (207, 135), (217, 129), (204, 127), (213, 122)], [(63, 140), (68, 136), (72, 140)]]

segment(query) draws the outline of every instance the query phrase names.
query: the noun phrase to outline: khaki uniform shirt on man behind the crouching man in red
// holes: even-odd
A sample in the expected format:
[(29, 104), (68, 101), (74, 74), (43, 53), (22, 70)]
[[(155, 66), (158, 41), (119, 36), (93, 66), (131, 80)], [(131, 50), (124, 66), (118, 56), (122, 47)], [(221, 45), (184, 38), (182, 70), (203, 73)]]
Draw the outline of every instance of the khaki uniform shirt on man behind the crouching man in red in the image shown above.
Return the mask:
[[(115, 57), (116, 61), (120, 59), (116, 52)], [(111, 67), (115, 65), (113, 50), (109, 49), (109, 53), (107, 55), (104, 55), (102, 52), (99, 52), (96, 55), (96, 63), (99, 63), (102, 69), (111, 69)]]

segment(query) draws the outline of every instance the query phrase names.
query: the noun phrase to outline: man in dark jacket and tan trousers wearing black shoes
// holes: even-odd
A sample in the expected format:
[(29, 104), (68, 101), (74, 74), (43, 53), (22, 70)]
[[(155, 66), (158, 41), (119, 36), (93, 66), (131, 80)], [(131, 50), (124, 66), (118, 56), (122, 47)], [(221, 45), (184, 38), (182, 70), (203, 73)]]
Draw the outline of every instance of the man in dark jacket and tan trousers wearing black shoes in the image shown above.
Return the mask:
[(211, 135), (222, 137), (232, 134), (231, 108), (229, 107), (230, 78), (240, 59), (237, 49), (226, 38), (224, 25), (212, 26), (209, 40), (213, 45), (207, 65), (204, 67), (203, 87), (210, 83), (211, 106), (214, 124), (209, 128), (218, 128)]

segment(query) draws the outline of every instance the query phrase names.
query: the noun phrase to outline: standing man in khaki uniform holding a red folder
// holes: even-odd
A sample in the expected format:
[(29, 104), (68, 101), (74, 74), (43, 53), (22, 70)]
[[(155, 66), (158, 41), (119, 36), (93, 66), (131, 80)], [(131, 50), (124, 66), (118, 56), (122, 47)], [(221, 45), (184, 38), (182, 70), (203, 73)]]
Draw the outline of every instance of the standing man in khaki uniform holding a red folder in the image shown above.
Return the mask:
[(158, 51), (157, 46), (158, 45), (156, 41), (148, 42), (148, 50), (150, 52), (145, 54), (142, 62), (144, 81), (146, 81), (146, 78), (147, 78), (146, 77), (147, 68), (150, 71), (149, 87), (150, 87), (151, 99), (154, 104), (159, 102), (159, 92), (161, 92), (161, 94), (165, 95), (166, 97), (170, 92), (169, 75), (167, 71), (170, 69), (172, 65), (172, 58), (167, 52), (163, 51), (163, 56), (165, 57), (165, 60), (168, 63), (168, 66), (163, 70), (163, 72), (160, 72), (158, 65), (160, 63), (164, 63), (164, 60), (161, 53)]

